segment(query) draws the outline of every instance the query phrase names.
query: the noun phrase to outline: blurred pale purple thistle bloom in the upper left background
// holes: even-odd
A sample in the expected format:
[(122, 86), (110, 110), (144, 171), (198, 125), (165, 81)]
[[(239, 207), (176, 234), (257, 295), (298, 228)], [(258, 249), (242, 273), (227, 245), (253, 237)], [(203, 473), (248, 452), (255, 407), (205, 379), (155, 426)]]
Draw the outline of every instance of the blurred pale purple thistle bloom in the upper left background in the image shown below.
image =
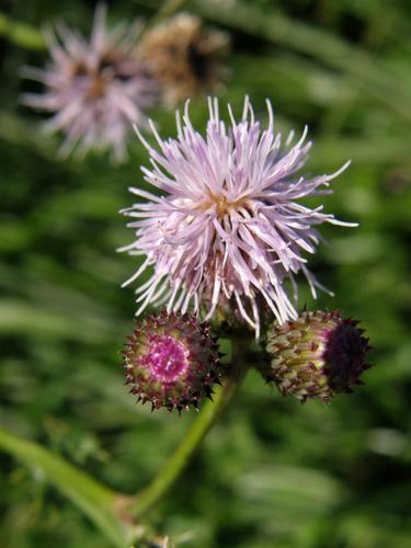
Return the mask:
[(98, 5), (90, 42), (64, 23), (46, 32), (52, 61), (46, 69), (26, 67), (23, 76), (44, 83), (43, 94), (26, 93), (23, 102), (54, 113), (48, 133), (61, 130), (61, 153), (76, 147), (79, 157), (89, 149), (112, 149), (117, 161), (126, 156), (132, 124), (147, 125), (145, 109), (156, 99), (156, 85), (144, 62), (134, 54), (139, 25), (105, 27), (106, 8)]

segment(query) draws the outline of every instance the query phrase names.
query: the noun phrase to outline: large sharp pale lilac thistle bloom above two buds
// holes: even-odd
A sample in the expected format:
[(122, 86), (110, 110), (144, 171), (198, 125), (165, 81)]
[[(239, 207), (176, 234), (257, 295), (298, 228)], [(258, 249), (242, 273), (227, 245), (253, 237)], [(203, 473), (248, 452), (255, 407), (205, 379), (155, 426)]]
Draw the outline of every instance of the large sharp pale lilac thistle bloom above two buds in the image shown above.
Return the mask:
[(137, 239), (121, 251), (147, 255), (124, 285), (155, 267), (137, 288), (141, 302), (137, 316), (150, 302), (167, 302), (168, 311), (184, 313), (192, 306), (209, 320), (228, 304), (258, 338), (261, 302), (279, 323), (297, 317), (285, 279), (292, 281), (296, 297), (294, 275), (302, 271), (316, 296), (320, 284), (301, 252), (316, 251), (316, 225), (347, 224), (322, 213), (322, 206), (309, 209), (297, 201), (331, 192), (321, 187), (328, 187), (350, 162), (331, 175), (297, 178), (311, 146), (304, 142), (307, 128), (297, 144), (290, 145), (290, 135), (282, 147), (270, 102), (267, 107), (264, 130), (247, 98), (240, 122), (228, 106), (230, 128), (219, 119), (217, 100), (209, 100), (205, 138), (192, 126), (187, 105), (183, 123), (178, 115), (178, 139), (162, 140), (150, 122), (160, 151), (139, 134), (152, 163), (151, 169), (141, 168), (145, 180), (164, 194), (130, 189), (148, 202), (122, 212), (136, 218), (128, 226), (136, 229)]

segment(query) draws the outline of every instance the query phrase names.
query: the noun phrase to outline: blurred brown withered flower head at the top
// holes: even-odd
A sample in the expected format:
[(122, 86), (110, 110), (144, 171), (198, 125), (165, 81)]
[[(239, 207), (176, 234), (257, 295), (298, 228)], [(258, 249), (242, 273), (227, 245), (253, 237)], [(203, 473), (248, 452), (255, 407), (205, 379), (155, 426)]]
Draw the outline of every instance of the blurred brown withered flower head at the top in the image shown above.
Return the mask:
[(138, 52), (160, 83), (164, 102), (173, 105), (217, 89), (224, 76), (220, 61), (228, 45), (226, 33), (205, 30), (198, 18), (180, 13), (148, 31)]

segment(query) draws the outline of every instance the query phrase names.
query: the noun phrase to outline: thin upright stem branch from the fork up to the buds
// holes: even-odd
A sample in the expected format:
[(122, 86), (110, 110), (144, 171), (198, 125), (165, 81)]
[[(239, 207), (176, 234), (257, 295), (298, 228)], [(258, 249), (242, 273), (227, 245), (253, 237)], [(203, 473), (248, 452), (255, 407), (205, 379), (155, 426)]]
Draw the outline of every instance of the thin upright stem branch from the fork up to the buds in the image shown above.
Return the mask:
[(127, 509), (132, 515), (140, 516), (148, 512), (172, 487), (208, 431), (226, 409), (247, 370), (247, 366), (240, 363), (236, 364), (236, 370), (227, 378), (224, 386), (216, 390), (213, 401), (207, 401), (203, 407), (201, 414), (180, 446), (165, 461), (151, 483), (136, 496), (135, 502)]

